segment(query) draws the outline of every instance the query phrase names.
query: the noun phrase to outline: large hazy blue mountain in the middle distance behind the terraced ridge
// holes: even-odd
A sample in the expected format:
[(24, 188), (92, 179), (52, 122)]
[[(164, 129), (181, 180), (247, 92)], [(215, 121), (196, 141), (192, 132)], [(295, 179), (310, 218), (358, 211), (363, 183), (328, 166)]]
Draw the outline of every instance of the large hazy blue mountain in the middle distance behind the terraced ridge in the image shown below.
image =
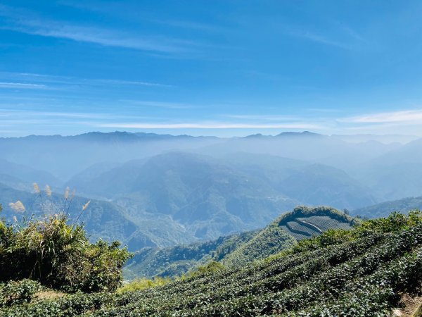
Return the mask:
[(276, 156), (170, 152), (94, 172), (69, 185), (112, 199), (135, 223), (182, 225), (191, 241), (262, 228), (298, 204), (326, 201), (343, 209), (374, 202), (341, 170)]

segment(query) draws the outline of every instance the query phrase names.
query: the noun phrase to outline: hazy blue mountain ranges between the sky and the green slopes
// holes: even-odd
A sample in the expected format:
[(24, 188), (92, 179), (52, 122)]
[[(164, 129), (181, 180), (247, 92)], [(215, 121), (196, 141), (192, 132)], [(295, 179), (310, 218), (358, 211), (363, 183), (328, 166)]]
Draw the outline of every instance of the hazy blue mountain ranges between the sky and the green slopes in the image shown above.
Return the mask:
[(262, 228), (299, 204), (371, 217), (381, 215), (362, 208), (422, 195), (422, 139), (407, 136), (90, 132), (1, 138), (0, 149), (7, 218), (18, 199), (37, 211), (32, 182), (51, 185), (58, 205), (70, 186), (78, 201), (72, 215), (92, 201), (81, 217), (91, 235), (132, 250)]

